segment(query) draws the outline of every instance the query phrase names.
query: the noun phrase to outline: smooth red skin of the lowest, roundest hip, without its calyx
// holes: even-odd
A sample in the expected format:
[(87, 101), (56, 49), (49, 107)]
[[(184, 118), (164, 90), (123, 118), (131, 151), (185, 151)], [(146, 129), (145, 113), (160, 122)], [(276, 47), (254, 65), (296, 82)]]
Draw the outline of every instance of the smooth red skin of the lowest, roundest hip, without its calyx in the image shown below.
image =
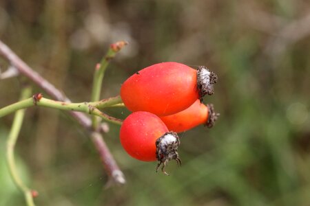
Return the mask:
[(121, 144), (135, 159), (156, 161), (156, 140), (168, 131), (159, 117), (138, 111), (124, 120), (120, 130)]

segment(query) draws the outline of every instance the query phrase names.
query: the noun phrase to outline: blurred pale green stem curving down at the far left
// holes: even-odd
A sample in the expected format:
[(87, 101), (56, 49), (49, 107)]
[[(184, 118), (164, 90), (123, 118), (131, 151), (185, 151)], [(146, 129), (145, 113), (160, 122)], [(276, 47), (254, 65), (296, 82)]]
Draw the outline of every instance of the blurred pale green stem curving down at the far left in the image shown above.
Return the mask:
[[(23, 89), (21, 93), (21, 100), (27, 98), (31, 93), (30, 87), (27, 87)], [(21, 101), (21, 105), (25, 105), (24, 101)], [(8, 168), (10, 170), (10, 174), (12, 176), (12, 179), (14, 183), (19, 187), (21, 192), (25, 195), (25, 201), (28, 206), (34, 206), (34, 201), (32, 198), (32, 192), (31, 190), (23, 183), (21, 178), (19, 177), (19, 174), (17, 172), (17, 166), (15, 164), (14, 160), (14, 148), (15, 144), (17, 142), (17, 138), (19, 137), (19, 132), (21, 130), (21, 125), (23, 124), (23, 117), (25, 115), (25, 109), (18, 110), (18, 106), (11, 106), (10, 109), (15, 109), (16, 111), (14, 115), (14, 121), (12, 124), (12, 128), (10, 130), (10, 134), (8, 136), (8, 141), (7, 141), (7, 153), (6, 153), (6, 158), (8, 162)]]

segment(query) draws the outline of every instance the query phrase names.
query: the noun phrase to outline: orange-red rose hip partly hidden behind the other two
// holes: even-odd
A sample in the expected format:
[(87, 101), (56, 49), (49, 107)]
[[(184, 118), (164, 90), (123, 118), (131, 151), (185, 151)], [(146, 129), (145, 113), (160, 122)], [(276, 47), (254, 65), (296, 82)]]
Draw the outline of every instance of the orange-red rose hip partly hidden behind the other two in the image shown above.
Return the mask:
[(160, 118), (169, 130), (181, 133), (200, 124), (205, 124), (205, 126), (211, 128), (218, 119), (218, 115), (218, 113), (214, 112), (213, 104), (205, 105), (200, 100), (196, 100), (189, 108)]

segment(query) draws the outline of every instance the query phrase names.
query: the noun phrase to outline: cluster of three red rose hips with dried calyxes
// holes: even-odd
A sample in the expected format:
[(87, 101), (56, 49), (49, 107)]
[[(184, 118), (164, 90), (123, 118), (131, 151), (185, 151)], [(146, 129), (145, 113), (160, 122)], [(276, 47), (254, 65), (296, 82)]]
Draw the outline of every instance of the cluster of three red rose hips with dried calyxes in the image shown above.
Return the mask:
[(218, 113), (203, 96), (214, 93), (217, 81), (206, 67), (197, 70), (177, 62), (163, 62), (136, 72), (121, 87), (121, 98), (132, 111), (120, 131), (126, 152), (141, 161), (158, 160), (158, 168), (178, 157), (176, 133), (205, 124), (214, 125)]

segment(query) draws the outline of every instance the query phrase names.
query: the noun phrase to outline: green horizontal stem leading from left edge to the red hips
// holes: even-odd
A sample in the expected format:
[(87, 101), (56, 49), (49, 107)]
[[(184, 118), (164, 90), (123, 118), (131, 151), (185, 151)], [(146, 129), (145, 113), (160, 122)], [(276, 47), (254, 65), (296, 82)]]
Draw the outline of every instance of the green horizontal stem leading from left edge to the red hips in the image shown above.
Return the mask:
[[(113, 100), (113, 99), (112, 99)], [(105, 101), (105, 106), (112, 106), (112, 104), (108, 103), (109, 100)], [(89, 113), (90, 115), (96, 115), (101, 117), (107, 122), (112, 122), (114, 124), (121, 125), (122, 120), (116, 119), (115, 117), (110, 117), (109, 115), (101, 112), (98, 108), (93, 106), (94, 102), (81, 102), (81, 103), (68, 103), (68, 102), (59, 102), (55, 100), (49, 100), (47, 98), (41, 98), (40, 100), (34, 101), (34, 98), (28, 98), (26, 100), (22, 100), (20, 102), (10, 104), (9, 106), (3, 107), (0, 109), (0, 117), (13, 113), (21, 108), (28, 108), (30, 106), (44, 106), (48, 108), (57, 108), (65, 111), (79, 111), (83, 113)], [(97, 103), (98, 104), (98, 103)]]

